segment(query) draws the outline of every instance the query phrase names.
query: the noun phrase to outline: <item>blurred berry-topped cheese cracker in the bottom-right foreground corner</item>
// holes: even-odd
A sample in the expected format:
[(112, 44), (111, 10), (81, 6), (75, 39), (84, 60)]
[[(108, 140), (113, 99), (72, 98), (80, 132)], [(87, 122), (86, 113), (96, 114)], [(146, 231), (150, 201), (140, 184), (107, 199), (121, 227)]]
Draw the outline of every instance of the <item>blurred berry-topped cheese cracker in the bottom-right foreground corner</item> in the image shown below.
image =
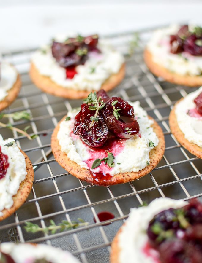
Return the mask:
[[(202, 262), (202, 203), (157, 198), (131, 208), (111, 245), (111, 263)], [(135, 260), (134, 260), (135, 259)]]

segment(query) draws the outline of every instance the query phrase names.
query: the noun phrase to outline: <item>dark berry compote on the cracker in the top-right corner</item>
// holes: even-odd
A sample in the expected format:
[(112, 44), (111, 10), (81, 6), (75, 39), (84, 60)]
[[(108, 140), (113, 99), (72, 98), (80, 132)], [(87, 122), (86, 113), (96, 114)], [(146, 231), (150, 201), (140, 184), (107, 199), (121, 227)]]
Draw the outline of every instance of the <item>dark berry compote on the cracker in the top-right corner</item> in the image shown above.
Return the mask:
[(195, 27), (191, 32), (188, 25), (182, 25), (176, 35), (170, 36), (170, 52), (188, 52), (193, 56), (202, 55), (202, 28)]

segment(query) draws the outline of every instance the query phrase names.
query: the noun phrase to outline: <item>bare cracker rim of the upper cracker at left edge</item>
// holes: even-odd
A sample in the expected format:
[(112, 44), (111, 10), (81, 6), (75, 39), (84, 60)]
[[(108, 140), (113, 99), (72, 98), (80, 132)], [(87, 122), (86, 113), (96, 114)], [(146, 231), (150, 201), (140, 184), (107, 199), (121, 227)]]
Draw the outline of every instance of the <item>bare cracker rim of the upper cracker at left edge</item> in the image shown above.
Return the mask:
[(0, 111), (7, 108), (15, 99), (18, 97), (18, 93), (20, 92), (21, 88), (21, 79), (20, 75), (18, 74), (16, 82), (12, 86), (10, 90), (7, 91), (8, 95), (0, 101)]

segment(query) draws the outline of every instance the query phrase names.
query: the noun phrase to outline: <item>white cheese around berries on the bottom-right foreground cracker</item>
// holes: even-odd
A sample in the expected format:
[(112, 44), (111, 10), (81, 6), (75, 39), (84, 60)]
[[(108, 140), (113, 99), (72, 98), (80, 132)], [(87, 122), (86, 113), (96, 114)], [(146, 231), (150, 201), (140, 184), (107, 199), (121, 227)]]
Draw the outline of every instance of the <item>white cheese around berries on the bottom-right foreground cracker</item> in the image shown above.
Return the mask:
[(118, 246), (121, 249), (119, 263), (155, 263), (151, 256), (143, 253), (148, 237), (146, 229), (149, 221), (159, 212), (169, 208), (180, 208), (187, 202), (170, 198), (157, 198), (148, 206), (131, 208), (128, 219), (122, 227), (118, 237)]

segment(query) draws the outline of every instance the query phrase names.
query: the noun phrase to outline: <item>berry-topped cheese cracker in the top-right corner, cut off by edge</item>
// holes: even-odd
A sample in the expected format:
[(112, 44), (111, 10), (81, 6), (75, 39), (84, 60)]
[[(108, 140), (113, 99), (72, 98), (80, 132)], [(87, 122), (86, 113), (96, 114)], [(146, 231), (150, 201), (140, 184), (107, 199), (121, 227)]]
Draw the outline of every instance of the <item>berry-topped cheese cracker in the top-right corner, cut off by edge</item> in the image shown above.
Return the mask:
[(156, 76), (190, 87), (202, 85), (202, 28), (171, 25), (154, 32), (144, 60)]

